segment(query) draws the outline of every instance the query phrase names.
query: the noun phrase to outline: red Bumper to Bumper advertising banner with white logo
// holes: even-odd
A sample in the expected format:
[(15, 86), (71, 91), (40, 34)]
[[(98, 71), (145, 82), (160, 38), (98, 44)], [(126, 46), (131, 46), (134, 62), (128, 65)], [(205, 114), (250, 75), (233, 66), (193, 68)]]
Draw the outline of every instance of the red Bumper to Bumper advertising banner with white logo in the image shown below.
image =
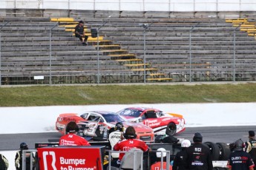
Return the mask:
[(44, 170), (102, 170), (102, 147), (45, 147), (38, 149)]

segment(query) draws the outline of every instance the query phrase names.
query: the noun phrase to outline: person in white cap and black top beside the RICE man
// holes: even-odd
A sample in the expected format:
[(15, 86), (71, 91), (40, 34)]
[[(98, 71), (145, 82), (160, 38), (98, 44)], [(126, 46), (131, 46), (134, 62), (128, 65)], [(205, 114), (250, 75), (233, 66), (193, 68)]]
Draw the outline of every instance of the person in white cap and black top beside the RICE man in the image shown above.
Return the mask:
[(191, 142), (189, 140), (183, 140), (181, 142), (181, 151), (177, 152), (174, 157), (174, 166), (172, 166), (173, 170), (186, 170), (188, 169), (187, 161), (187, 152), (186, 149), (191, 146)]

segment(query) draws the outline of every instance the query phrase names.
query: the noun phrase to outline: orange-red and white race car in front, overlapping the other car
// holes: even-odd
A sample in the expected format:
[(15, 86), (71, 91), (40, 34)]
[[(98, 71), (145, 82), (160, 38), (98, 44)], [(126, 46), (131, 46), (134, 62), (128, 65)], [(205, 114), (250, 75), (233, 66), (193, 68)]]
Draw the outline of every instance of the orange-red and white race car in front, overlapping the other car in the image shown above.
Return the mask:
[(70, 121), (76, 122), (79, 126), (77, 134), (90, 140), (108, 140), (108, 134), (114, 130), (117, 122), (122, 122), (124, 131), (128, 126), (134, 126), (137, 138), (145, 142), (154, 141), (154, 132), (142, 123), (132, 123), (114, 112), (92, 111), (82, 115), (76, 113), (64, 113), (56, 120), (56, 130), (66, 134), (66, 126)]

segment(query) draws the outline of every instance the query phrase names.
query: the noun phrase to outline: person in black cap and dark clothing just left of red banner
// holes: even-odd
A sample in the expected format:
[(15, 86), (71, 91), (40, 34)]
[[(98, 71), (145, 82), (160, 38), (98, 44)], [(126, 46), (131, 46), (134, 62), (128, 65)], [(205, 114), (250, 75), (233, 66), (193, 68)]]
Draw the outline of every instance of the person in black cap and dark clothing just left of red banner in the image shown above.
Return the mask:
[[(16, 152), (16, 157), (15, 157), (15, 167), (17, 170), (22, 170), (22, 157), (23, 157), (23, 150), (27, 150), (28, 146), (27, 143), (21, 143), (19, 145), (19, 152)], [(31, 155), (32, 154), (32, 155)], [(25, 161), (26, 161), (26, 170), (30, 170), (30, 160), (31, 156), (33, 157), (32, 163), (33, 163), (33, 169), (35, 169), (35, 157), (32, 152), (25, 152)]]

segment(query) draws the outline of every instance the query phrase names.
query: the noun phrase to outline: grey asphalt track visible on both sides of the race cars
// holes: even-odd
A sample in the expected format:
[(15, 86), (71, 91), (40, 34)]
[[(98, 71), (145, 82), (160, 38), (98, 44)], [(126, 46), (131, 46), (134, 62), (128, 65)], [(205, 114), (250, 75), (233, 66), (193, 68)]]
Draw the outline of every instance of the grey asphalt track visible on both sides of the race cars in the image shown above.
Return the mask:
[[(192, 140), (195, 132), (203, 135), (203, 142), (233, 143), (237, 139), (244, 142), (248, 139), (248, 131), (256, 126), (214, 126), (187, 127), (185, 132), (175, 135), (177, 138)], [(0, 135), (0, 151), (19, 150), (19, 143), (26, 142), (30, 149), (35, 149), (35, 143), (47, 143), (48, 140), (58, 140), (58, 132)]]

